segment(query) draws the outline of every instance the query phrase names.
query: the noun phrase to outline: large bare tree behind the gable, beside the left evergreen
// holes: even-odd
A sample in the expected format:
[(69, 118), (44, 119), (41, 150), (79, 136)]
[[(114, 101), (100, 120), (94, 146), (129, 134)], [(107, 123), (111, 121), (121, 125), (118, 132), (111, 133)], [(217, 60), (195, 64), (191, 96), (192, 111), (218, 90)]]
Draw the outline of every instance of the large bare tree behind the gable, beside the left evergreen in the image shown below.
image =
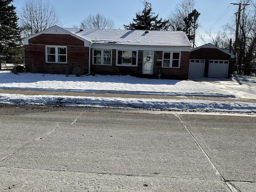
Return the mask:
[(20, 14), (20, 29), (24, 37), (36, 34), (59, 23), (60, 17), (49, 0), (26, 0)]

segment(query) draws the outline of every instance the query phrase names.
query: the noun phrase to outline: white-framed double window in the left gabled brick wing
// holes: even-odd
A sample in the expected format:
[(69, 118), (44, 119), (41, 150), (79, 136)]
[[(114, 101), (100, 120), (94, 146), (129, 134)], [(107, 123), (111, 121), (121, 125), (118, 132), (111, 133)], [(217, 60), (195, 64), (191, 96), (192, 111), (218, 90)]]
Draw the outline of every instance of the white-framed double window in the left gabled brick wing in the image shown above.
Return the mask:
[(67, 63), (67, 47), (46, 46), (47, 63)]

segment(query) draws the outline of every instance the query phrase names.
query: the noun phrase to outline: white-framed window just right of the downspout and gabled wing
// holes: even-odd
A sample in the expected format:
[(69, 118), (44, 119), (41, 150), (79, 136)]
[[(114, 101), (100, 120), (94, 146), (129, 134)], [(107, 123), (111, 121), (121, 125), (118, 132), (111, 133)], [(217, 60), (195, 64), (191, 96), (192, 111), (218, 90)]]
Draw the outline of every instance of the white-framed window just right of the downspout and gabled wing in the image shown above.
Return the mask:
[(93, 64), (95, 65), (111, 65), (111, 50), (94, 49)]

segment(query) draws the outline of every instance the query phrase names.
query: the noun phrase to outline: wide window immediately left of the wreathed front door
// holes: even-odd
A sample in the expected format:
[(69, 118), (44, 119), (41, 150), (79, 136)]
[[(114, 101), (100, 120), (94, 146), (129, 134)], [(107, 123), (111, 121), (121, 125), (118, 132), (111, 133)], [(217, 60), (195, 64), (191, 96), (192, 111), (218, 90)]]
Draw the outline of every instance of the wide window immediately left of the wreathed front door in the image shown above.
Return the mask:
[(137, 66), (137, 55), (137, 51), (118, 50), (116, 65)]

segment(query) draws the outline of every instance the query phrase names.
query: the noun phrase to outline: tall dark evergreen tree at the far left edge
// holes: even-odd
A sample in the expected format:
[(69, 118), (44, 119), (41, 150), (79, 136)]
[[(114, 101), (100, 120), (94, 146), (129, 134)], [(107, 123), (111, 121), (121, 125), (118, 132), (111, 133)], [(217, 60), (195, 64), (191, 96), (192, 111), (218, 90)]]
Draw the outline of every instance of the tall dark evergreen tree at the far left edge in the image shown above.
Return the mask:
[(13, 0), (0, 0), (0, 55), (1, 62), (18, 64), (22, 54), (16, 8), (9, 5)]

